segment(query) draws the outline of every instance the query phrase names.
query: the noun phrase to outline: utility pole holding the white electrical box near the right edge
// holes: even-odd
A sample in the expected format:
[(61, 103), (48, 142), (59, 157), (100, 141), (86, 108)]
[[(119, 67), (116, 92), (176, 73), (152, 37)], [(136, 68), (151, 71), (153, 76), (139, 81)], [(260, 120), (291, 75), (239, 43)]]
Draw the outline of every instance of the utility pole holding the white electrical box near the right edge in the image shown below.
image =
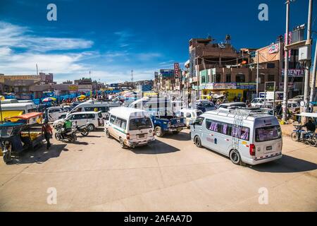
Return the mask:
[[(308, 23), (307, 23), (307, 38), (306, 40), (311, 40), (311, 11), (313, 0), (309, 0), (309, 14), (308, 14)], [(309, 44), (309, 48), (311, 48), (311, 44)], [(304, 86), (304, 112), (309, 112), (309, 68), (305, 69), (305, 86)], [(303, 117), (302, 122), (306, 122), (306, 117)]]

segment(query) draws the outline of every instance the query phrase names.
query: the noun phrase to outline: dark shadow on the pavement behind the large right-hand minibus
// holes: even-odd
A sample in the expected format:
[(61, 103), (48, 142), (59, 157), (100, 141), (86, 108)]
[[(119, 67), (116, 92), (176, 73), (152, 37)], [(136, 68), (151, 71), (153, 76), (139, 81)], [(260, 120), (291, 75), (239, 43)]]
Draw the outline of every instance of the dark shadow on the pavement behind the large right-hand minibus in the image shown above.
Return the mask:
[(250, 166), (250, 168), (259, 172), (305, 172), (317, 169), (317, 164), (290, 155), (283, 155), (280, 160)]

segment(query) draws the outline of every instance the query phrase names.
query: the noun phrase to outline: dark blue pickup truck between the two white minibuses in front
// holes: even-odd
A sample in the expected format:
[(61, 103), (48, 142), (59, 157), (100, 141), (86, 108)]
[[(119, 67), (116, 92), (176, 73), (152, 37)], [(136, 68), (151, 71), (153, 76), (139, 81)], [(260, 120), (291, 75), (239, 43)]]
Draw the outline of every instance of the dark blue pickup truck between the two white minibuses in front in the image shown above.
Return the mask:
[(156, 136), (162, 137), (165, 133), (180, 133), (182, 129), (186, 129), (184, 117), (176, 117), (172, 111), (151, 112), (151, 120), (154, 125)]

